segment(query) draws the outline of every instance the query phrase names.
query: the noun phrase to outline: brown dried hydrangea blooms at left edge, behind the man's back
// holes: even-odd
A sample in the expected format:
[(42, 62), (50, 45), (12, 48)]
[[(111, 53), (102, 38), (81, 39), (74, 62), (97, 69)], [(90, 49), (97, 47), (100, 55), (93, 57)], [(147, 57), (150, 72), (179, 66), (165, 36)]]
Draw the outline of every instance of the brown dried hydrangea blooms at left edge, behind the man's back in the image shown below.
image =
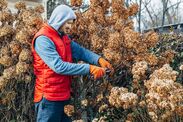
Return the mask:
[(18, 11), (12, 14), (7, 1), (0, 1), (0, 90), (9, 82), (30, 82), (33, 79), (31, 41), (42, 26), (44, 9), (43, 6), (27, 8), (24, 2), (16, 3), (15, 8)]

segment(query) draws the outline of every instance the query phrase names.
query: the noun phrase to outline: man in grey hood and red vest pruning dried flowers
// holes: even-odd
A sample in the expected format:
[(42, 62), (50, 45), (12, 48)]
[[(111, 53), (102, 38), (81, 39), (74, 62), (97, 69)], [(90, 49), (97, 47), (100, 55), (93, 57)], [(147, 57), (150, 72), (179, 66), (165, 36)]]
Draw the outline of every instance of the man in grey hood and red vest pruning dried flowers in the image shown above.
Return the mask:
[[(106, 68), (113, 70), (105, 59), (71, 41), (64, 33), (75, 19), (71, 8), (59, 5), (32, 41), (38, 122), (71, 121), (64, 113), (64, 106), (69, 104), (72, 75), (91, 74), (97, 79), (105, 75)], [(76, 64), (73, 59), (89, 64)]]

